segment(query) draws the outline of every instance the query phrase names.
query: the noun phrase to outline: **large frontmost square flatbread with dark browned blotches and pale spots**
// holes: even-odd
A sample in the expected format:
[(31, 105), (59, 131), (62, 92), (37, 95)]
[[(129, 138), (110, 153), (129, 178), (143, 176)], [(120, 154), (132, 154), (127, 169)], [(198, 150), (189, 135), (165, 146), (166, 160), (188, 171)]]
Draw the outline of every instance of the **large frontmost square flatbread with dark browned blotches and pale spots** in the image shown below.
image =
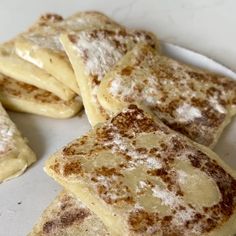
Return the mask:
[(46, 172), (112, 235), (236, 233), (235, 171), (150, 114), (130, 105), (54, 154)]

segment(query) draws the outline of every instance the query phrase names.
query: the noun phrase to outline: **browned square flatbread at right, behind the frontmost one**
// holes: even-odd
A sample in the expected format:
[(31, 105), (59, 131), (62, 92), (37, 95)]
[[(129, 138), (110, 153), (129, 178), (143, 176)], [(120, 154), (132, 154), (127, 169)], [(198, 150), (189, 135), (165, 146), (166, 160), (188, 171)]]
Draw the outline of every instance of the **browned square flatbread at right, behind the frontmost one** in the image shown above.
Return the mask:
[(172, 129), (213, 147), (236, 114), (236, 81), (139, 45), (103, 79), (98, 100), (111, 115), (141, 103)]

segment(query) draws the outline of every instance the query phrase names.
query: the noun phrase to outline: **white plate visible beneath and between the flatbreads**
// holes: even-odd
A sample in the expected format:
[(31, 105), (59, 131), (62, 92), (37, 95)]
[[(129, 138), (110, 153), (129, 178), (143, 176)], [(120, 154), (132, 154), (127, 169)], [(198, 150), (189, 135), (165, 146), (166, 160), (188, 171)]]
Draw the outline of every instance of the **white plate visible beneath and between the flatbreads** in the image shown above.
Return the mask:
[[(229, 69), (195, 52), (171, 44), (163, 44), (163, 49), (167, 55), (189, 64), (236, 78), (236, 74)], [(43, 172), (45, 160), (57, 149), (87, 132), (90, 125), (84, 112), (68, 120), (13, 112), (10, 116), (29, 139), (29, 145), (38, 156), (38, 161), (24, 175), (0, 186), (0, 236), (21, 236), (31, 230), (43, 209), (60, 189)], [(215, 149), (234, 168), (235, 137), (236, 119), (226, 128)]]

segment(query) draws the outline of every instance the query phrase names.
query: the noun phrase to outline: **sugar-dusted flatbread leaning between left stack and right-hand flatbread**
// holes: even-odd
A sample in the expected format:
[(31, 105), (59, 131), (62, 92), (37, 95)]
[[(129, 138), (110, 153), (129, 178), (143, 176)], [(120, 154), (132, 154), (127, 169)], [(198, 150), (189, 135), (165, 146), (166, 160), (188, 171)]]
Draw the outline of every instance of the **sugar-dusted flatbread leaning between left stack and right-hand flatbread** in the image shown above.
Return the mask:
[(88, 119), (92, 125), (109, 116), (97, 100), (105, 74), (138, 42), (159, 48), (156, 37), (145, 31), (93, 29), (62, 35), (61, 42), (74, 68)]

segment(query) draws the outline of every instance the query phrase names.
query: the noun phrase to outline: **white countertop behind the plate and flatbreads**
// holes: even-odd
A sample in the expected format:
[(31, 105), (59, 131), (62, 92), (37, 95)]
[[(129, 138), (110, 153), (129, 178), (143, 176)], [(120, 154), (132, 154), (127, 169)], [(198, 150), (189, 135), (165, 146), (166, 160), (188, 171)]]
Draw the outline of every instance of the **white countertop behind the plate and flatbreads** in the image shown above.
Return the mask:
[(119, 22), (153, 30), (159, 38), (205, 54), (236, 71), (235, 0), (1, 0), (0, 41), (44, 12), (65, 16), (95, 9)]

